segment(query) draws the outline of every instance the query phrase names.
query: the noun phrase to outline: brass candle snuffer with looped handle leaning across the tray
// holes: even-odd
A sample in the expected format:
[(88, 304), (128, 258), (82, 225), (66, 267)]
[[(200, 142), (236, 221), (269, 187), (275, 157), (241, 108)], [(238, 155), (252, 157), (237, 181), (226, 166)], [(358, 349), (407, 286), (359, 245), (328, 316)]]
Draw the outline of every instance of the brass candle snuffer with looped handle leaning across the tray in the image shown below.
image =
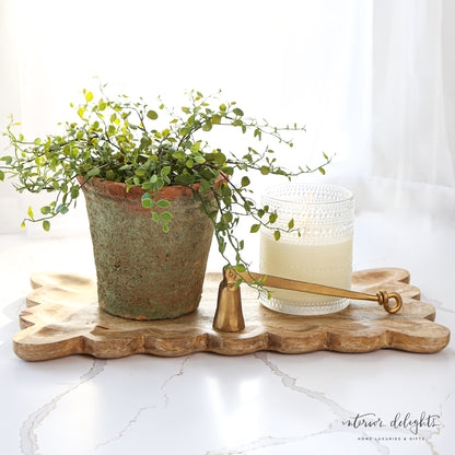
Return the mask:
[[(267, 283), (267, 287), (269, 288), (377, 302), (380, 305), (383, 305), (387, 313), (390, 314), (397, 313), (402, 306), (402, 299), (396, 292), (380, 291), (376, 295), (373, 295), (365, 294), (363, 292), (350, 291), (347, 289), (338, 289), (323, 284), (308, 283), (305, 281), (273, 277), (270, 275), (248, 271), (237, 272), (233, 268), (228, 268), (223, 269), (223, 280), (221, 281), (218, 291), (217, 312), (213, 318), (213, 328), (217, 330), (241, 331), (245, 328), (245, 320), (243, 318), (242, 312), (241, 287), (236, 285), (236, 282), (240, 278), (242, 278), (247, 283)], [(395, 300), (395, 306), (389, 305), (390, 299)]]

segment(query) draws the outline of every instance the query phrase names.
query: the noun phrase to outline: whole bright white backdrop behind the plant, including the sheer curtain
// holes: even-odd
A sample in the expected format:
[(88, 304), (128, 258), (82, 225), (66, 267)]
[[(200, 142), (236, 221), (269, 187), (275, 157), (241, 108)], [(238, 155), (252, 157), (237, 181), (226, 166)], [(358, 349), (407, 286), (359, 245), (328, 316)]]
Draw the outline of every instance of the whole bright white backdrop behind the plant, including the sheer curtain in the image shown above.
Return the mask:
[[(93, 77), (112, 94), (177, 106), (185, 90), (222, 89), (252, 116), (306, 125), (283, 160), (335, 154), (328, 176), (307, 179), (346, 183), (360, 209), (406, 206), (417, 190), (429, 207), (444, 195), (453, 214), (454, 3), (0, 0), (0, 129), (14, 114), (26, 138), (58, 131)], [(0, 184), (0, 232), (16, 233), (31, 203)], [(88, 232), (78, 209), (46, 235)]]

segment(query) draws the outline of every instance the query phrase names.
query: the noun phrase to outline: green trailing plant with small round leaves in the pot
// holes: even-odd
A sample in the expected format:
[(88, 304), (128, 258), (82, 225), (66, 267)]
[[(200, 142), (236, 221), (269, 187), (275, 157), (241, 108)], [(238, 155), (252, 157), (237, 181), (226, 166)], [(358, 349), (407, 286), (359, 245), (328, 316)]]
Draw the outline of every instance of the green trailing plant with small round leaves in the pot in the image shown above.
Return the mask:
[[(252, 173), (291, 179), (314, 171), (324, 174), (324, 167), (330, 162), (324, 154), (319, 166), (287, 171), (277, 163), (268, 145), (261, 151), (248, 147), (240, 156), (210, 145), (207, 140), (210, 131), (222, 127), (249, 132), (255, 143), (269, 137), (290, 148), (293, 142), (284, 133), (305, 130), (296, 124), (278, 128), (266, 120), (247, 117), (235, 102), (221, 103), (219, 94), (206, 97), (191, 91), (188, 104), (176, 113), (166, 108), (160, 98), (154, 108), (142, 100), (131, 102), (126, 95), (112, 101), (104, 88), (97, 100), (92, 92), (83, 91), (84, 103), (71, 105), (79, 119), (66, 122), (62, 135), (48, 135), (30, 142), (22, 133), (14, 133), (20, 124), (11, 118), (4, 136), (13, 153), (1, 158), (0, 180), (16, 177), (14, 187), (19, 192), (52, 194), (51, 201), (38, 212), (28, 208), (22, 226), (28, 221), (42, 222), (48, 231), (49, 220), (67, 213), (75, 203), (81, 192), (77, 176), (82, 176), (85, 182), (97, 177), (125, 183), (128, 188), (141, 187), (145, 191), (142, 206), (168, 232), (172, 203), (161, 199), (159, 190), (165, 185), (184, 185), (191, 188), (194, 198), (201, 201), (201, 210), (212, 220), (226, 265), (245, 271), (248, 262), (242, 256), (244, 240), (235, 233), (240, 220), (249, 218), (250, 232), (255, 233), (261, 226), (270, 229), (278, 218), (267, 206), (261, 207), (252, 199)], [(160, 121), (163, 119), (164, 124)], [(226, 178), (217, 186), (214, 182), (221, 174)], [(278, 241), (280, 229), (272, 229)], [(292, 220), (288, 230), (293, 230)]]

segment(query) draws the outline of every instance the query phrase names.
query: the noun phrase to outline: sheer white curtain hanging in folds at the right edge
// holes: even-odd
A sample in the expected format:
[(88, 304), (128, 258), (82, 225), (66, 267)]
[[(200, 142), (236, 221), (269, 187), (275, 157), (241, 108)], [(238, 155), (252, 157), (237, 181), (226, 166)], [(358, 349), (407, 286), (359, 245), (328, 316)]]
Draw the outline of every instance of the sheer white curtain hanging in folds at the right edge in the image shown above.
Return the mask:
[(455, 2), (373, 3), (370, 178), (358, 200), (455, 221)]

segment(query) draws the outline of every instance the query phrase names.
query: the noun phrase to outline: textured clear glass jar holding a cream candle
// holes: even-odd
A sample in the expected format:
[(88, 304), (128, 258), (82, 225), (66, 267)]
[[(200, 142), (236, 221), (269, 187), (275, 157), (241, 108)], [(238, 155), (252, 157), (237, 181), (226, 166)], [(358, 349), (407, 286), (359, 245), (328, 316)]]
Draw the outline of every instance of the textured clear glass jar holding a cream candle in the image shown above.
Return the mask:
[[(351, 288), (354, 198), (350, 190), (327, 184), (284, 184), (269, 188), (262, 203), (278, 219), (271, 229), (260, 230), (261, 273)], [(278, 228), (282, 231), (276, 241)], [(287, 314), (322, 315), (349, 305), (349, 299), (269, 290), (271, 299), (264, 292), (260, 303)]]

